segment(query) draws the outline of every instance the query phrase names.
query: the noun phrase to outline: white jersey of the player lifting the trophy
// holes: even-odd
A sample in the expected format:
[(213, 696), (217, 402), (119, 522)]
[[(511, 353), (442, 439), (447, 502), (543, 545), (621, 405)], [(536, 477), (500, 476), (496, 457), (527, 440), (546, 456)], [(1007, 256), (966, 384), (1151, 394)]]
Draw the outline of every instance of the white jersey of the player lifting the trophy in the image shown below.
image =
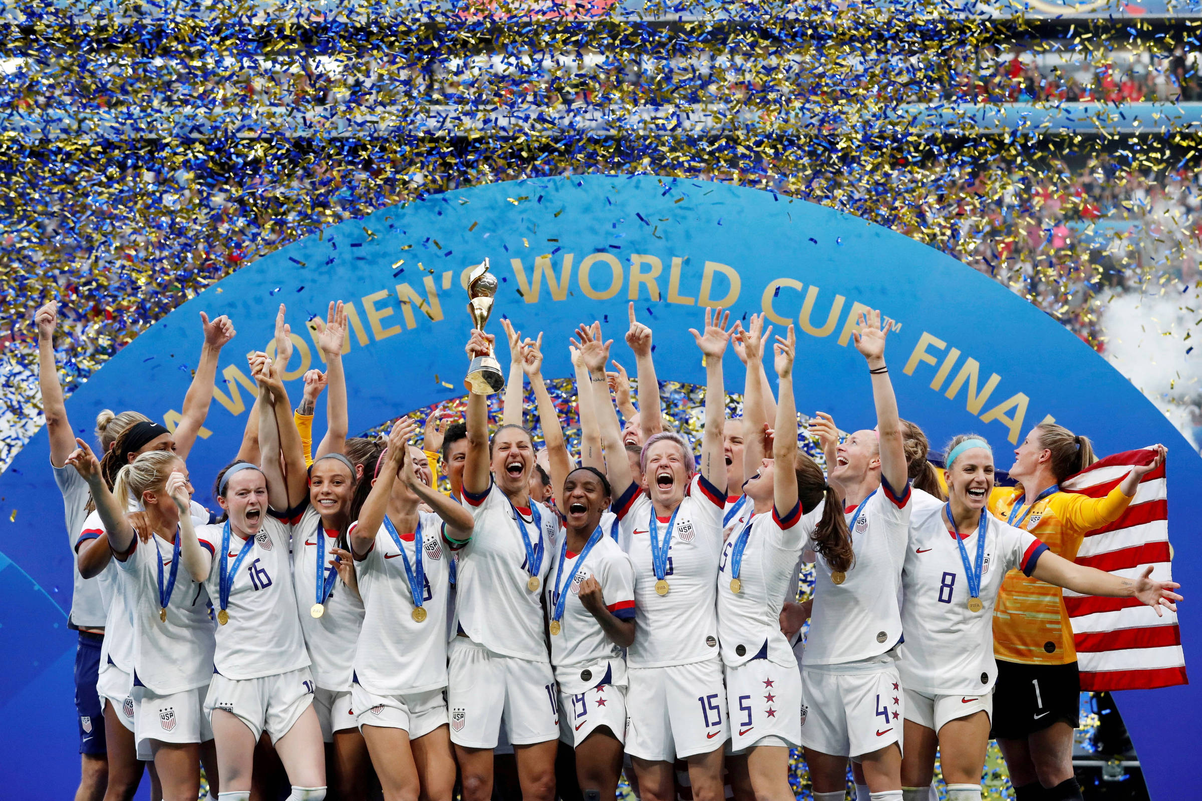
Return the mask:
[[(494, 653), (518, 659), (547, 662), (543, 633), (542, 586), (551, 572), (551, 548), (559, 518), (537, 501), (531, 509), (517, 509), (496, 484), (481, 495), (463, 491), (475, 528), (459, 549), (456, 576), (456, 620), (474, 642)], [(542, 531), (534, 524), (532, 509), (541, 515)], [(525, 544), (518, 516), (535, 549), (536, 574), (526, 568)], [(541, 555), (542, 561), (538, 561)], [(538, 586), (531, 590), (531, 575)]]

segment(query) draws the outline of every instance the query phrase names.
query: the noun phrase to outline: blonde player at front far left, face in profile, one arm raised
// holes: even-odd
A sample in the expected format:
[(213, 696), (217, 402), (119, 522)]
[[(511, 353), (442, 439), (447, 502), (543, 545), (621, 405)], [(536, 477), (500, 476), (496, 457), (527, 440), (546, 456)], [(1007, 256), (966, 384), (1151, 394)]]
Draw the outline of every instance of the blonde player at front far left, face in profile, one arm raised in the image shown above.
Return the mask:
[[(203, 709), (213, 663), (208, 598), (179, 569), (180, 532), (192, 532), (186, 467), (175, 454), (153, 450), (123, 467), (111, 492), (100, 461), (83, 440), (77, 443), (67, 462), (91, 490), (132, 620), (137, 748), (154, 759), (165, 801), (192, 801), (202, 757), (210, 787), (219, 776)], [(126, 519), (127, 498), (145, 510), (144, 543)]]

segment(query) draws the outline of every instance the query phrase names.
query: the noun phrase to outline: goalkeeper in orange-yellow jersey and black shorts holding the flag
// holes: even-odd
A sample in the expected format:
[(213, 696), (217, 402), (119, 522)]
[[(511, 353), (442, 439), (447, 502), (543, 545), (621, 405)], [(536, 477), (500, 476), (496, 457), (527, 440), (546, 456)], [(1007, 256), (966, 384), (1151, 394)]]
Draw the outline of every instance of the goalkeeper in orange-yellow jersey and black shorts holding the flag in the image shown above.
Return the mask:
[[(1014, 450), (1010, 477), (1019, 486), (994, 491), (989, 510), (1072, 561), (1085, 533), (1118, 520), (1139, 479), (1164, 464), (1164, 447), (1156, 446), (1156, 452), (1152, 465), (1132, 470), (1103, 497), (1061, 492), (1060, 483), (1089, 467), (1094, 452), (1088, 437), (1054, 423), (1040, 424)], [(1081, 799), (1072, 775), (1081, 676), (1060, 588), (1020, 570), (1007, 573), (993, 614), (993, 653), (998, 660), (993, 736), (1006, 758), (1016, 797)]]

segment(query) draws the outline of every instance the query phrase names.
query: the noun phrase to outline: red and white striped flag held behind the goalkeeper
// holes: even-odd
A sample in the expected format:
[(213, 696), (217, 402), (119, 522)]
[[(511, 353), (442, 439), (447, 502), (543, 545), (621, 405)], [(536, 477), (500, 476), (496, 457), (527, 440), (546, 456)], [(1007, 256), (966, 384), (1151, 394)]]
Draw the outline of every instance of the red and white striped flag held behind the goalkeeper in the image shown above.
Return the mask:
[[(1155, 459), (1150, 449), (1107, 456), (1060, 484), (1069, 492), (1105, 497), (1133, 465)], [(1085, 534), (1077, 563), (1107, 573), (1136, 578), (1153, 566), (1152, 578), (1172, 580), (1168, 545), (1168, 501), (1165, 465), (1139, 482), (1135, 500), (1118, 520)], [(1135, 598), (1101, 598), (1064, 591), (1072, 620), (1081, 688), (1153, 689), (1189, 683), (1177, 614), (1165, 609), (1158, 617), (1152, 606)]]

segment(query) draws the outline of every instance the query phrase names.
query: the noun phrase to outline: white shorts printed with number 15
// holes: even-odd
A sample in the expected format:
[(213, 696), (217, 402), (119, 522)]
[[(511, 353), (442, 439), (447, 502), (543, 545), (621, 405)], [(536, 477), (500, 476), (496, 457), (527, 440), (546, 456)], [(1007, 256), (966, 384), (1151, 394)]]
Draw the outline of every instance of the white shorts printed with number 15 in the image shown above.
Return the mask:
[(720, 748), (730, 736), (722, 659), (626, 669), (626, 752), (673, 761)]

